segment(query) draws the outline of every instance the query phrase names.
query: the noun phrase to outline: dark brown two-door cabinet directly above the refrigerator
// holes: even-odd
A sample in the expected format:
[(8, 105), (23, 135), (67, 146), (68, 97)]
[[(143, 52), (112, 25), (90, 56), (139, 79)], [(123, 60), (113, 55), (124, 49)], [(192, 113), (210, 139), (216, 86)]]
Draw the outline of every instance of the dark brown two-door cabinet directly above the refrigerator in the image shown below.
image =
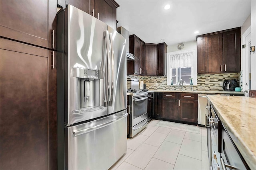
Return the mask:
[(116, 8), (119, 5), (114, 0), (66, 0), (66, 4), (98, 18), (116, 30)]

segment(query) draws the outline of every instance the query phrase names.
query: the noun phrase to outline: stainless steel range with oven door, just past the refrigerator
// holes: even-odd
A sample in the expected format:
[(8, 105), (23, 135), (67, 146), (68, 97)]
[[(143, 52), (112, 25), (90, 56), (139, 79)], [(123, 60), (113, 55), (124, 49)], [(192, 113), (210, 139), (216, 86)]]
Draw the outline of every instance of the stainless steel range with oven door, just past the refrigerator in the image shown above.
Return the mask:
[[(129, 82), (131, 81), (131, 82)], [(138, 90), (139, 81), (136, 79), (127, 79), (128, 84), (131, 84), (135, 89), (127, 90), (130, 93), (130, 134), (128, 137), (134, 137), (137, 133), (142, 131), (148, 124), (148, 91), (147, 90)]]

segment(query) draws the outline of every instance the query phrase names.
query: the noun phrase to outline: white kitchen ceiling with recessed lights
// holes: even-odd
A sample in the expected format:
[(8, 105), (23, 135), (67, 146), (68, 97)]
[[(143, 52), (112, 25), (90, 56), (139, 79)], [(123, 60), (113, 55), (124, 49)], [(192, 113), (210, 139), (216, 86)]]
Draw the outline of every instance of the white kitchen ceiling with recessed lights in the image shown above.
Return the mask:
[[(240, 27), (251, 13), (250, 0), (116, 0), (117, 26), (145, 43), (195, 41), (196, 35)], [(169, 10), (164, 6), (170, 4)], [(195, 31), (199, 33), (194, 34)], [(160, 39), (165, 39), (160, 41)]]

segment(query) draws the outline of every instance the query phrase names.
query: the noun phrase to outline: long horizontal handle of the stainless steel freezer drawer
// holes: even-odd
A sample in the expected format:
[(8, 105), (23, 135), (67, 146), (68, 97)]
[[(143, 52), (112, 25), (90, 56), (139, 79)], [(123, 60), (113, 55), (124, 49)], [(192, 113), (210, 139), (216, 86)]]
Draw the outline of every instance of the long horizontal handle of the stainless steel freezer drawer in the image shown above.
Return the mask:
[[(94, 127), (90, 127), (90, 128), (86, 128), (86, 129), (82, 129), (82, 130), (74, 130), (73, 131), (73, 134), (75, 136), (78, 136), (78, 135), (82, 135), (82, 134), (85, 134), (85, 133), (89, 133), (91, 131), (95, 131), (97, 129), (100, 129), (102, 127), (106, 127), (116, 121), (119, 121), (120, 119), (123, 119), (124, 117), (126, 117), (128, 115), (128, 113), (123, 113), (121, 116), (117, 117), (116, 119), (113, 119), (111, 121), (107, 121), (107, 122), (104, 122), (102, 124), (99, 124), (99, 125), (95, 125)], [(104, 118), (103, 118), (104, 119)]]

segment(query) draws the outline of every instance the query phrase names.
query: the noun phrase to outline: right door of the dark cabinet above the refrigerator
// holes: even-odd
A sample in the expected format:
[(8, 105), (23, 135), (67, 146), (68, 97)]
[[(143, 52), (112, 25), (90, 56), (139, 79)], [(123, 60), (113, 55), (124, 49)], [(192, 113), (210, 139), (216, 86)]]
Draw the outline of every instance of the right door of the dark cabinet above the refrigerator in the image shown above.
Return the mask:
[(114, 1), (95, 0), (94, 16), (116, 30), (116, 6)]

